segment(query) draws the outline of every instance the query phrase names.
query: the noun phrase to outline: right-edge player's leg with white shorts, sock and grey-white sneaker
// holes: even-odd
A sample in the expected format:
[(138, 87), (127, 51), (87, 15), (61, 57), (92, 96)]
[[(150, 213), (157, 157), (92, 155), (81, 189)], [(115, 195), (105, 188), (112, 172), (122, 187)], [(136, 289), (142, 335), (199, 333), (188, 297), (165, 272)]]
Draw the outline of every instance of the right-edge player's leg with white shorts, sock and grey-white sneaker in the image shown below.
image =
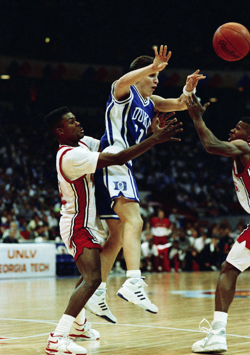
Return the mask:
[[(244, 237), (244, 236), (243, 236)], [(207, 336), (194, 343), (194, 353), (207, 351), (226, 351), (227, 312), (235, 295), (238, 275), (250, 266), (250, 250), (245, 247), (246, 241), (236, 241), (230, 250), (227, 260), (221, 266), (220, 276), (215, 293), (215, 312)]]

